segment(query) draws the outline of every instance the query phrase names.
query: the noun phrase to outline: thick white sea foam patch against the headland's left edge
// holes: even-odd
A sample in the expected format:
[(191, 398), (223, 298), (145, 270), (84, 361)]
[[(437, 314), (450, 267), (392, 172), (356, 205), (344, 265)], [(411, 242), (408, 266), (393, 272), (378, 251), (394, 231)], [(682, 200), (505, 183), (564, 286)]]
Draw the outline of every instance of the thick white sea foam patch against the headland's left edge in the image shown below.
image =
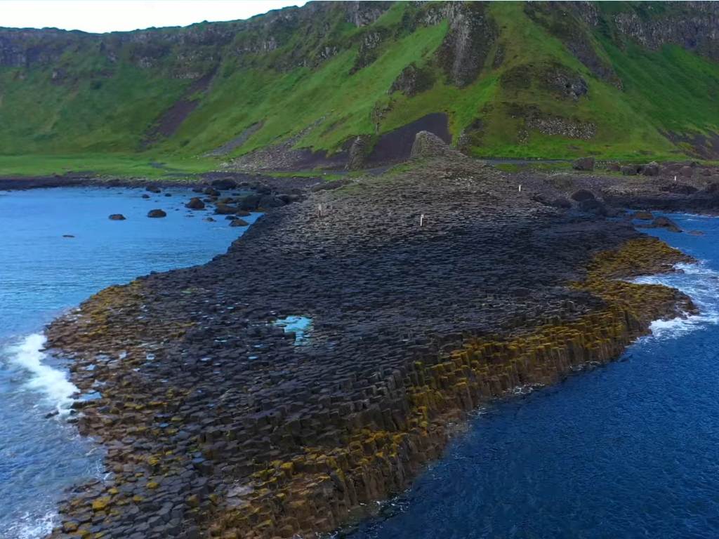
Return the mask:
[(12, 364), (22, 367), (30, 374), (26, 387), (42, 393), (57, 408), (58, 412), (69, 413), (73, 394), (78, 391), (66, 374), (43, 363), (47, 354), (42, 351), (47, 339), (40, 333), (32, 333), (19, 344), (9, 346)]

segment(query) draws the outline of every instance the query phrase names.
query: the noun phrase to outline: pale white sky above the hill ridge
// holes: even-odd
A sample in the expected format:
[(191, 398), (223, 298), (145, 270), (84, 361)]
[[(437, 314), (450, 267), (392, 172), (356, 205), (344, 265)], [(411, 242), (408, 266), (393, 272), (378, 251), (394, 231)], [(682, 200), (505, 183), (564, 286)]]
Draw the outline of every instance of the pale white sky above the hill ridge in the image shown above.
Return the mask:
[(0, 27), (116, 32), (247, 19), (306, 0), (0, 0)]

